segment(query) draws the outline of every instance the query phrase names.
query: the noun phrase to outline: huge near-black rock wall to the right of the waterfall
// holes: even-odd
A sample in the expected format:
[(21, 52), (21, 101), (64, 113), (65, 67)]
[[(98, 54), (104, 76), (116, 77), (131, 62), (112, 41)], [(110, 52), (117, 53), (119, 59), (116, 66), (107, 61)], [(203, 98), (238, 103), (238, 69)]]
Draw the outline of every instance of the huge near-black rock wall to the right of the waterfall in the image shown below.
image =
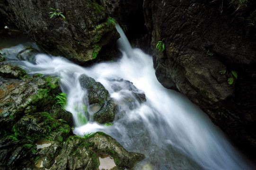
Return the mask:
[[(234, 142), (255, 151), (255, 28), (243, 27), (228, 1), (144, 0), (143, 7), (159, 82), (184, 93)], [(165, 50), (158, 51), (162, 39)]]

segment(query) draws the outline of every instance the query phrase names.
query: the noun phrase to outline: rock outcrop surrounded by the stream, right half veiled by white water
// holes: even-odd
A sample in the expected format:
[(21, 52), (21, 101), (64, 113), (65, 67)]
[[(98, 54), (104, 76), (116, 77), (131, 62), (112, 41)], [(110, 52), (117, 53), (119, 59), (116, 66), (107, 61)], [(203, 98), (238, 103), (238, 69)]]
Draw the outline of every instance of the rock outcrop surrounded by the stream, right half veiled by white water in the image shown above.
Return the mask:
[(81, 87), (87, 91), (84, 100), (88, 100), (91, 106), (99, 106), (99, 109), (93, 114), (93, 119), (101, 124), (112, 122), (118, 112), (117, 118), (120, 118), (124, 113), (124, 110), (120, 110), (121, 108), (133, 110), (141, 103), (146, 102), (145, 94), (139, 91), (132, 82), (124, 79), (111, 80), (111, 88), (120, 93), (121, 100), (111, 98), (105, 87), (91, 77), (81, 75), (79, 82)]

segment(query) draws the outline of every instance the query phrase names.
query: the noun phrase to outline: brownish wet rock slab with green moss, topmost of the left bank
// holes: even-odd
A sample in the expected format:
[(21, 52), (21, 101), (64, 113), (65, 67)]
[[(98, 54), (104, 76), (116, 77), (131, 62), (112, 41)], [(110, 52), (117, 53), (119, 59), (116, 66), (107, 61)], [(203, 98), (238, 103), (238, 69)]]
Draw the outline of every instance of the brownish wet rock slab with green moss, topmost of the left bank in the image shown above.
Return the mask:
[[(2, 64), (2, 63), (0, 63)], [(16, 66), (4, 65), (14, 68)], [(20, 70), (20, 69), (18, 69)], [(21, 70), (21, 73), (25, 73)], [(2, 74), (9, 77), (9, 74)], [(20, 75), (19, 72), (13, 75)], [(16, 119), (26, 113), (38, 110), (51, 110), (54, 104), (53, 94), (60, 93), (58, 78), (55, 76), (23, 76), (24, 79), (2, 79), (0, 85), (0, 127), (12, 127)]]

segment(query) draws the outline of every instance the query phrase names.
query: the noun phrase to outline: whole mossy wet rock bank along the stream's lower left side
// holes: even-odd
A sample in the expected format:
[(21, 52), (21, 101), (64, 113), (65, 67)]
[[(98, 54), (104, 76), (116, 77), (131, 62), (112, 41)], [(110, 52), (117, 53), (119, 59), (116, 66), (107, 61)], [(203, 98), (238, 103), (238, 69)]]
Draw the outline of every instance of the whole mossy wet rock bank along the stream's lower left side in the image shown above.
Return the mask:
[(118, 168), (124, 169), (144, 158), (102, 132), (73, 136), (71, 113), (52, 110), (51, 95), (60, 92), (57, 77), (25, 75), (0, 82), (1, 170), (97, 170), (97, 153), (115, 156)]

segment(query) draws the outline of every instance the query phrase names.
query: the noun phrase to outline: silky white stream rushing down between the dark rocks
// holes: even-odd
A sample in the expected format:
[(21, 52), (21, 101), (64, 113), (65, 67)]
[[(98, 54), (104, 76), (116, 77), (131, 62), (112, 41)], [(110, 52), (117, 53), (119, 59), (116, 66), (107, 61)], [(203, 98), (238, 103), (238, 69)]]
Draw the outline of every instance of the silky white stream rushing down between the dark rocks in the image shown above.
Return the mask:
[[(73, 114), (77, 135), (103, 131), (115, 138), (130, 152), (143, 153), (145, 159), (135, 170), (253, 170), (255, 167), (239, 153), (218, 127), (186, 99), (182, 94), (164, 88), (158, 82), (152, 57), (140, 49), (132, 49), (119, 26), (122, 57), (115, 62), (97, 63), (89, 68), (80, 67), (62, 57), (43, 53), (35, 56), (35, 62), (18, 61), (29, 74), (41, 73), (60, 77), (62, 92), (67, 94), (66, 110)], [(18, 48), (19, 46), (13, 47)], [(13, 58), (9, 58), (13, 60)], [(84, 95), (78, 77), (86, 74), (100, 82), (120, 103), (113, 125), (100, 125), (91, 119), (88, 108), (86, 125), (78, 113), (85, 115)], [(146, 102), (133, 102), (132, 107), (124, 99), (130, 91), (122, 81), (128, 80), (146, 95)], [(116, 92), (113, 85), (122, 87)]]

